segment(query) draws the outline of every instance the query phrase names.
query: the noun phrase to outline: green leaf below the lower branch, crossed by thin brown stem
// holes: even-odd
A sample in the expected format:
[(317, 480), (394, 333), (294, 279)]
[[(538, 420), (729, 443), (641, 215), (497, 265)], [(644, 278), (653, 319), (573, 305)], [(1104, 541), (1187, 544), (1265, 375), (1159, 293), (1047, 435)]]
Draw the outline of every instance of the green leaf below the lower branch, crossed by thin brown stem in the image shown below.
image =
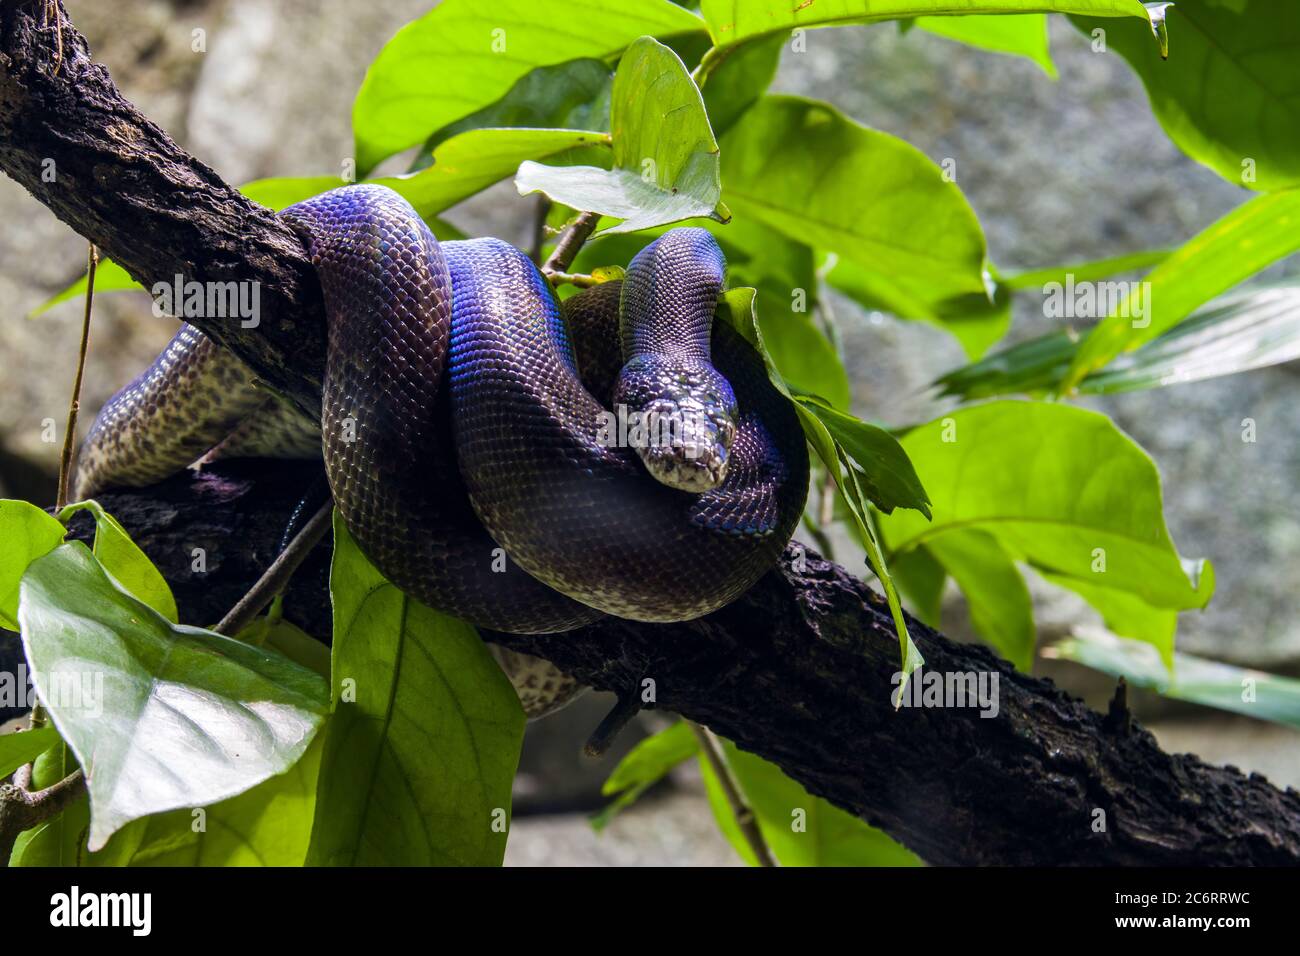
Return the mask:
[[(815, 797), (786, 777), (780, 767), (723, 741), (727, 765), (736, 777), (745, 801), (758, 819), (763, 842), (784, 866), (919, 866), (916, 856), (822, 797)], [(703, 757), (708, 805), (719, 829), (751, 866), (757, 862), (740, 834), (712, 767)]]

